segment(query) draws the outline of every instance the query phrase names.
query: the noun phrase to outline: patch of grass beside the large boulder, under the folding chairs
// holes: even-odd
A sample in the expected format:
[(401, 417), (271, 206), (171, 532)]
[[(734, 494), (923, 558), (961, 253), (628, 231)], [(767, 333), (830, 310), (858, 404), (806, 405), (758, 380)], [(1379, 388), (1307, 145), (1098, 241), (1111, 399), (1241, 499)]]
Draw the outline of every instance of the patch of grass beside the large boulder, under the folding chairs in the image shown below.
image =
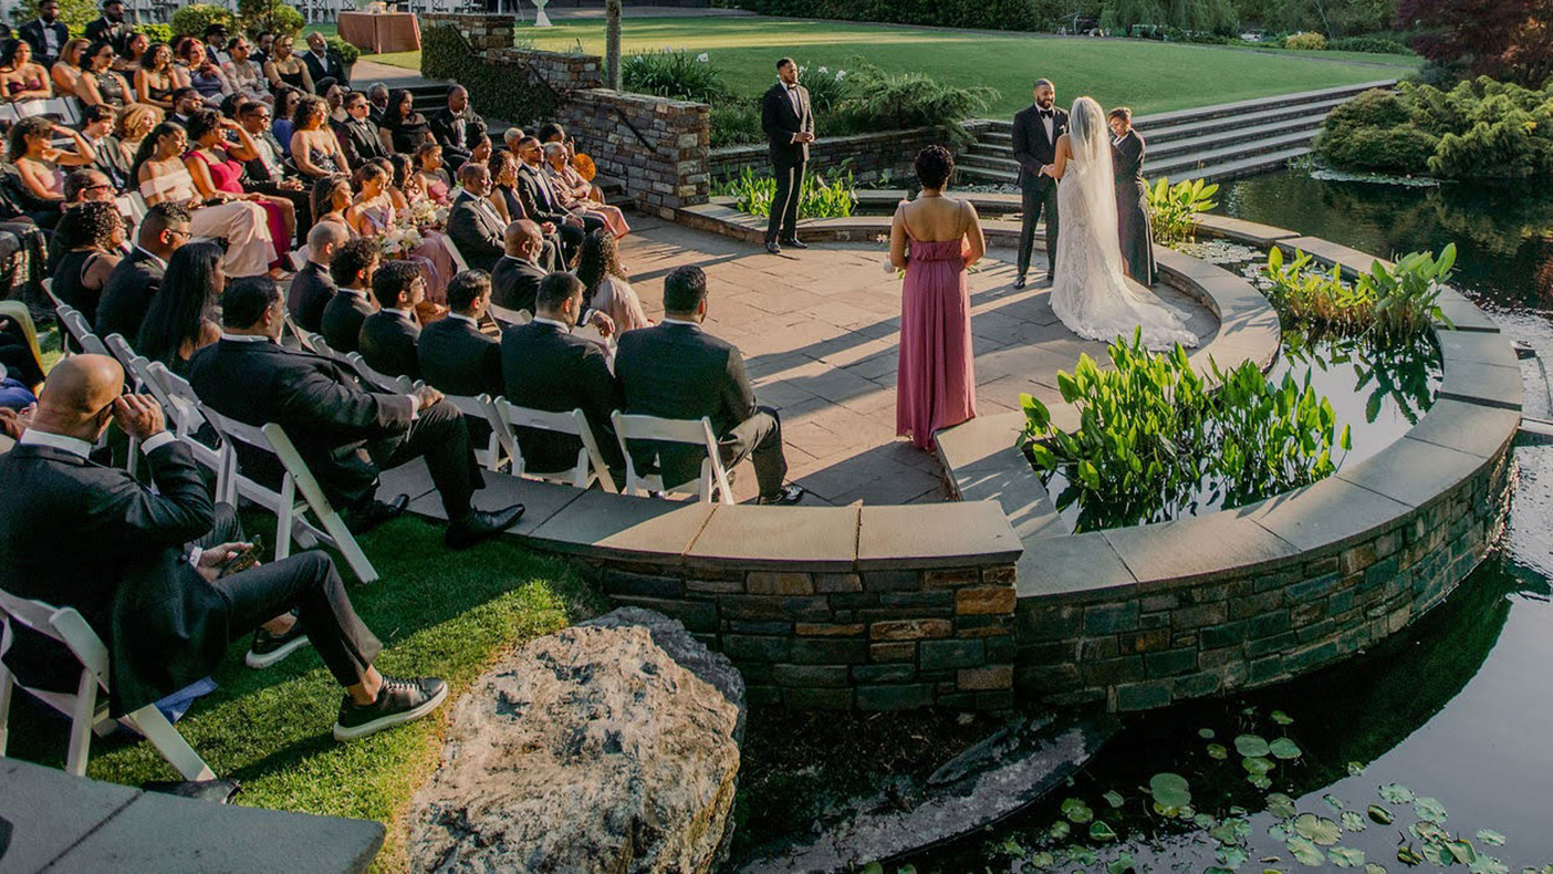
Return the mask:
[[(273, 517), (245, 517), (245, 523), (250, 534), (275, 542)], [(598, 604), (562, 562), (511, 542), (450, 554), (441, 526), (418, 519), (373, 531), (362, 548), (382, 579), (351, 585), (351, 601), (384, 641), (377, 664), (388, 674), (447, 678), (450, 695), (438, 716), (335, 744), (329, 730), (342, 692), (317, 654), (303, 649), (267, 671), (250, 671), (242, 664), (247, 641), (241, 641), (214, 675), (221, 689), (200, 699), (179, 730), (217, 775), (242, 782), (239, 804), (385, 823), (388, 838), (377, 868), (401, 871), (407, 862), (398, 821), (441, 754), (439, 717), (499, 655), (568, 626)], [(17, 708), (9, 754), (62, 767), (68, 725), (45, 716), (36, 702), (19, 700)], [(129, 786), (177, 776), (151, 745), (123, 740), (95, 740), (87, 773)]]

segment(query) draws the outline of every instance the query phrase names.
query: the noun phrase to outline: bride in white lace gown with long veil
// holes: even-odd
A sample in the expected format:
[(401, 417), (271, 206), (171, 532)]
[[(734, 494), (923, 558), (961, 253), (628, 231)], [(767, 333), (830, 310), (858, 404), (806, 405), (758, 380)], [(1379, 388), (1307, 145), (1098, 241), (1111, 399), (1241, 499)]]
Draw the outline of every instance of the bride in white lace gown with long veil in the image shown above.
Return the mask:
[(1093, 98), (1073, 101), (1054, 163), (1041, 172), (1062, 180), (1058, 186), (1062, 233), (1051, 284), (1051, 309), (1062, 324), (1079, 337), (1106, 343), (1118, 335), (1131, 340), (1141, 328), (1149, 349), (1196, 346), (1197, 335), (1186, 329), (1185, 320), (1121, 272), (1110, 130)]

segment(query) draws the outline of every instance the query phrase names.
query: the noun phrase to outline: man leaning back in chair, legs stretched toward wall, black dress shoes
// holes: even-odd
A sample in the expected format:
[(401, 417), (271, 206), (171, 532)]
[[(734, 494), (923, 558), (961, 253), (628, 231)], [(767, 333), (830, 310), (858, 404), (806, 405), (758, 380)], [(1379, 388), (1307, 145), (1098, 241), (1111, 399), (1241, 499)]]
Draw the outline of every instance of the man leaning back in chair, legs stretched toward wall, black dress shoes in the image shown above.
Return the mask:
[[(363, 391), (339, 363), (286, 349), (275, 342), (284, 309), (280, 289), (266, 276), (227, 289), (225, 332), (219, 343), (200, 349), (189, 368), (200, 401), (250, 425), (276, 422), (286, 428), (325, 494), (346, 508), (357, 529), (404, 511), (405, 495), (393, 505), (374, 500), (377, 473), (416, 458), (426, 458), (441, 495), (449, 548), (471, 546), (517, 522), (523, 505), (486, 512), (471, 503), (483, 480), (457, 407), (429, 387), (412, 394)], [(238, 458), (262, 475), (267, 460), (245, 458), (241, 446)]]

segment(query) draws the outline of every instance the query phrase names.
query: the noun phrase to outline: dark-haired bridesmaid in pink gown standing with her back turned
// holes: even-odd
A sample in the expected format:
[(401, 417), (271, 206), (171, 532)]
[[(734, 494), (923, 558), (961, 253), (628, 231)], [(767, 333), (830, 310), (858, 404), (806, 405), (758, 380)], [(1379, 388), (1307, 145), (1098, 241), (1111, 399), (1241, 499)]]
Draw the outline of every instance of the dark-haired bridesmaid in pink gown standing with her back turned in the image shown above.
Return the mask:
[(895, 432), (927, 452), (935, 430), (975, 418), (966, 267), (986, 253), (986, 239), (975, 206), (944, 196), (954, 168), (943, 146), (918, 152), (922, 192), (896, 208), (890, 227), (890, 262), (905, 269)]

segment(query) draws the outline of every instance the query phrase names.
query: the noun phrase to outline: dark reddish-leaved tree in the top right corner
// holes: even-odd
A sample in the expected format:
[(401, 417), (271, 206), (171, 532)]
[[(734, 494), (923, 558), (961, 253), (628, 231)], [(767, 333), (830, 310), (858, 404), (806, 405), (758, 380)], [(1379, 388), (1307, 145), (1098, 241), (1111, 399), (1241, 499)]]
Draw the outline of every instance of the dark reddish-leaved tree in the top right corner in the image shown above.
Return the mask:
[(1401, 0), (1396, 17), (1435, 64), (1528, 88), (1553, 75), (1553, 0)]

